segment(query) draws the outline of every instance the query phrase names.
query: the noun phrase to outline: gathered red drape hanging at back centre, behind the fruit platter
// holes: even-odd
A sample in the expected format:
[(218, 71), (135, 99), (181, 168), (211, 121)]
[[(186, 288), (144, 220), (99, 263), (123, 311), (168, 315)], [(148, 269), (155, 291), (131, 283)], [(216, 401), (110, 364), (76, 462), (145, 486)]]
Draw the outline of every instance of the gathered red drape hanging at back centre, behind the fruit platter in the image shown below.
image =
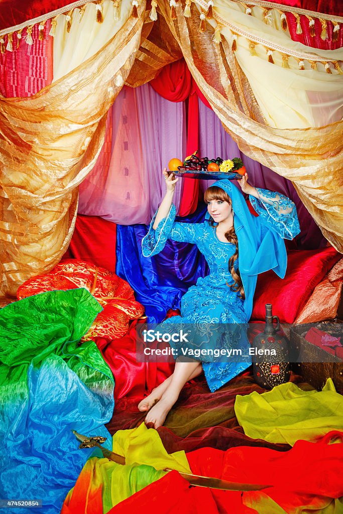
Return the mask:
[[(194, 90), (192, 76), (184, 59), (168, 64), (156, 79), (150, 81), (156, 93), (171, 102), (188, 102), (187, 155), (198, 149), (199, 112), (197, 95)], [(186, 156), (182, 156), (182, 159)], [(184, 180), (179, 207), (179, 216), (186, 216), (196, 210), (199, 196), (199, 182)]]

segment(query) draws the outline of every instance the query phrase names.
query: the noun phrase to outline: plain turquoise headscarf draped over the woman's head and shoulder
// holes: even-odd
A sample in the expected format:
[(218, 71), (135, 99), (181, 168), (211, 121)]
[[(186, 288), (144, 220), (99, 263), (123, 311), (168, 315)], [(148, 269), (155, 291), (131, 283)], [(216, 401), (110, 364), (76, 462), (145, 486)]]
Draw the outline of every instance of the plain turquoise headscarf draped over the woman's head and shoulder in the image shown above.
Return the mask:
[[(244, 310), (249, 320), (258, 274), (273, 269), (280, 278), (285, 276), (285, 244), (272, 227), (262, 225), (260, 217), (250, 213), (243, 194), (230, 180), (218, 180), (213, 186), (223, 189), (232, 201), (233, 226), (238, 238), (238, 266), (245, 292)], [(206, 219), (209, 217), (207, 212)]]

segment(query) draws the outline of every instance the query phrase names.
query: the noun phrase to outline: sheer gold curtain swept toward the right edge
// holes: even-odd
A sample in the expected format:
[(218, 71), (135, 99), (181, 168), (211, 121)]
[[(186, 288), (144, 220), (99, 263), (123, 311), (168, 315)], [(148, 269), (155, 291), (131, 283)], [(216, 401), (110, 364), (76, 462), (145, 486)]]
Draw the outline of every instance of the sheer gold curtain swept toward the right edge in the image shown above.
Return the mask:
[(206, 30), (199, 31), (200, 12), (194, 4), (191, 17), (185, 18), (184, 4), (178, 3), (175, 20), (167, 3), (159, 3), (159, 7), (195, 81), (240, 150), (290, 179), (323, 235), (343, 252), (342, 121), (317, 128), (268, 126), (225, 36), (220, 44), (215, 44), (214, 28), (207, 22)]

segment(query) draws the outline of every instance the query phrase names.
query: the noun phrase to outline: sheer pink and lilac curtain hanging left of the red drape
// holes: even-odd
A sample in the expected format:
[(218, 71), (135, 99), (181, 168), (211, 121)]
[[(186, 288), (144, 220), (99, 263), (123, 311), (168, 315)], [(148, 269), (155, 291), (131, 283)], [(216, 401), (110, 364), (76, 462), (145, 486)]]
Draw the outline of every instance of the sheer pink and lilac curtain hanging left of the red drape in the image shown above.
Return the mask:
[[(185, 154), (184, 124), (183, 102), (165, 100), (149, 84), (124, 87), (112, 107), (111, 158), (100, 154), (80, 185), (79, 213), (121, 225), (150, 223), (166, 191), (161, 169)], [(180, 183), (177, 208), (179, 201)]]

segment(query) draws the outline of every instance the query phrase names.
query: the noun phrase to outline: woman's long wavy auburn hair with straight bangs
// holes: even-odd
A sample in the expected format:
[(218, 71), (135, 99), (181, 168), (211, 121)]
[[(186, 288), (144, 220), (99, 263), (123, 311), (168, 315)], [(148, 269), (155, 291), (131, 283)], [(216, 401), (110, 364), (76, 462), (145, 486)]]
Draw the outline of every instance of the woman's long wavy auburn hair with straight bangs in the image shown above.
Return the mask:
[[(224, 191), (224, 189), (219, 188), (218, 186), (211, 186), (205, 191), (204, 195), (205, 203), (207, 204), (208, 201), (211, 200), (221, 200), (221, 201), (227, 201), (229, 205), (232, 205), (231, 198), (229, 195)], [(208, 220), (211, 227), (215, 227), (214, 219), (210, 216), (210, 219)], [(241, 274), (239, 272), (239, 269), (234, 269), (234, 263), (238, 259), (238, 238), (236, 235), (236, 232), (234, 231), (234, 227), (232, 226), (227, 232), (225, 232), (225, 237), (228, 241), (228, 243), (233, 243), (236, 246), (236, 251), (234, 254), (230, 257), (228, 267), (229, 271), (231, 273), (231, 277), (233, 279), (233, 284), (229, 285), (227, 284), (232, 291), (239, 291), (240, 297), (242, 300), (245, 299), (245, 293), (243, 288), (243, 282), (241, 279)]]

